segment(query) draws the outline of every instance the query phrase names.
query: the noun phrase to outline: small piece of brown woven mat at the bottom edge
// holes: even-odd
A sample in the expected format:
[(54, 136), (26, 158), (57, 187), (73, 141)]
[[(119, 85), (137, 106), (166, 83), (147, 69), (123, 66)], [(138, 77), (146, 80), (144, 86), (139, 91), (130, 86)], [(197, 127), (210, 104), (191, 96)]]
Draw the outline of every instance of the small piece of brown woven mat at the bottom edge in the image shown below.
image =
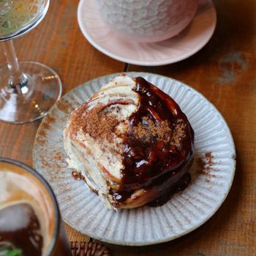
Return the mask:
[(70, 242), (72, 256), (110, 256), (110, 250), (94, 242)]

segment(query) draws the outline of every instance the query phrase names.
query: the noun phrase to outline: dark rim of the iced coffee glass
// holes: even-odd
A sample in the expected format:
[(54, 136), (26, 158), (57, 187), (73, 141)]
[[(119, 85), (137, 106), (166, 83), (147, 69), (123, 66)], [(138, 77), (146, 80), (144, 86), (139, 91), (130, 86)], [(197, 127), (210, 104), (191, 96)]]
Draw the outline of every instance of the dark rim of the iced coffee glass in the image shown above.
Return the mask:
[(45, 189), (47, 190), (48, 195), (50, 196), (50, 200), (53, 203), (53, 210), (54, 210), (53, 239), (50, 242), (50, 245), (48, 246), (48, 250), (47, 250), (47, 255), (51, 255), (51, 253), (53, 252), (53, 249), (55, 248), (57, 237), (61, 228), (61, 221), (60, 221), (61, 214), (59, 211), (58, 202), (56, 200), (56, 196), (54, 195), (53, 189), (50, 187), (50, 184), (48, 184), (48, 181), (46, 181), (45, 178), (43, 178), (42, 175), (39, 174), (37, 170), (34, 170), (32, 167), (29, 167), (28, 165), (25, 165), (22, 162), (19, 162), (17, 160), (5, 158), (5, 157), (0, 157), (0, 162), (7, 162), (11, 165), (16, 165), (18, 167), (21, 167), (23, 170), (28, 171), (32, 176), (37, 178), (39, 182), (42, 183)]

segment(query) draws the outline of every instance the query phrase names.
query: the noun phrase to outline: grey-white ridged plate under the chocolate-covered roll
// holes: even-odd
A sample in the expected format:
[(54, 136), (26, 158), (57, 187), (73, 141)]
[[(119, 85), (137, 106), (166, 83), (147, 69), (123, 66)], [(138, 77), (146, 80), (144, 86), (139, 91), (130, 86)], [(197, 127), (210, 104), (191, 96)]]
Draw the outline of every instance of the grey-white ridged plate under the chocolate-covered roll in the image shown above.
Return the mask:
[(236, 152), (225, 120), (203, 95), (161, 75), (127, 74), (157, 85), (187, 114), (195, 130), (195, 164), (189, 187), (161, 207), (111, 211), (83, 181), (72, 178), (62, 138), (69, 115), (117, 74), (83, 83), (53, 105), (37, 131), (34, 167), (56, 193), (64, 221), (76, 230), (112, 244), (157, 244), (195, 230), (217, 211), (233, 181)]

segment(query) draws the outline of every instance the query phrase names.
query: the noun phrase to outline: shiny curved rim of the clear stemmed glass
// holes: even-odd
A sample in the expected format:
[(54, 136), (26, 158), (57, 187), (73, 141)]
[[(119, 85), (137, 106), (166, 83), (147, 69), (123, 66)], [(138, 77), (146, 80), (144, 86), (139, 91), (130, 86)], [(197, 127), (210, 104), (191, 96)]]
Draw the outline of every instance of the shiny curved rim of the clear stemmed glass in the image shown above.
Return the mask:
[(22, 28), (14, 32), (11, 32), (10, 34), (5, 34), (3, 36), (1, 36), (0, 34), (0, 42), (21, 37), (24, 34), (29, 33), (31, 29), (34, 29), (42, 21), (42, 19), (45, 18), (46, 13), (48, 12), (50, 0), (45, 0), (45, 1), (46, 3), (45, 3), (44, 10), (41, 12), (41, 14), (37, 18), (31, 20), (29, 23), (26, 24), (26, 26), (23, 26)]

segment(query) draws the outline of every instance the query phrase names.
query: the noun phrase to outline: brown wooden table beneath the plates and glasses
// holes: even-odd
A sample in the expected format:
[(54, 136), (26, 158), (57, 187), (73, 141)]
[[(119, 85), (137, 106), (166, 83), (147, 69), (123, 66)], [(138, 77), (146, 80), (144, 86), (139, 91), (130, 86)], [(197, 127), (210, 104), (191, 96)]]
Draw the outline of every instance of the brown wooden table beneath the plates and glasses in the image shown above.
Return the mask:
[[(205, 225), (166, 244), (146, 247), (109, 245), (113, 255), (256, 255), (256, 1), (216, 0), (218, 23), (211, 41), (191, 58), (165, 67), (130, 66), (193, 86), (217, 108), (236, 143), (236, 176), (230, 194)], [(124, 63), (99, 53), (78, 28), (78, 0), (51, 1), (45, 20), (15, 40), (21, 60), (56, 69), (64, 94), (91, 78), (124, 70)], [(0, 63), (4, 56), (0, 54)], [(39, 121), (0, 123), (0, 156), (32, 165), (31, 151)], [(87, 241), (71, 227), (69, 239)]]

